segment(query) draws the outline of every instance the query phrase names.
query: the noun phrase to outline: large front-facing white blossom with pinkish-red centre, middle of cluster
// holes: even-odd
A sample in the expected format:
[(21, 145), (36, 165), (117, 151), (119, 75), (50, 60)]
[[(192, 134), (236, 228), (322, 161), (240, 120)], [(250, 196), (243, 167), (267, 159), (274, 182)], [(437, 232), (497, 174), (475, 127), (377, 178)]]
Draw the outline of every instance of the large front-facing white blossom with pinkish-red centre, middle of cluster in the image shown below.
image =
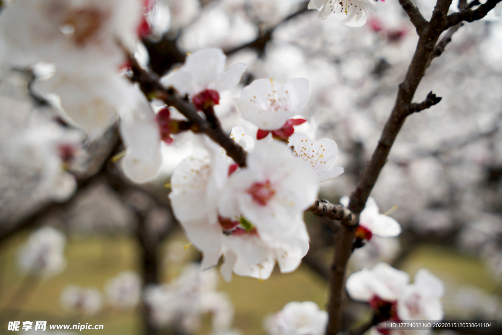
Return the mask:
[(279, 142), (257, 143), (247, 167), (230, 176), (219, 201), (224, 217), (245, 217), (261, 238), (287, 231), (317, 197), (317, 178), (301, 159)]

